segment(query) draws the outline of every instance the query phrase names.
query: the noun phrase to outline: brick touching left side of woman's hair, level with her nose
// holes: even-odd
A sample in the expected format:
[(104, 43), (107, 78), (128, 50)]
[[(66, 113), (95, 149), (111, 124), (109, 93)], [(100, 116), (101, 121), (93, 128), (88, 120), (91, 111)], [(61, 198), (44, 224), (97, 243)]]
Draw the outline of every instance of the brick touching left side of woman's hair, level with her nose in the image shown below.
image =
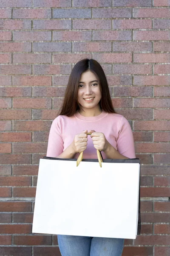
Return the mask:
[(33, 96), (35, 97), (63, 97), (66, 87), (34, 87)]

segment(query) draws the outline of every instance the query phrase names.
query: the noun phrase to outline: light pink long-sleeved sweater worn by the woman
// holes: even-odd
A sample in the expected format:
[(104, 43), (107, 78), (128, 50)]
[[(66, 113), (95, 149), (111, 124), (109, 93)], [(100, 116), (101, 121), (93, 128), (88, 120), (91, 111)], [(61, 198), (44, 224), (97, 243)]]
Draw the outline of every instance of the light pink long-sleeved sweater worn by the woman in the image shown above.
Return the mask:
[[(99, 116), (91, 117), (82, 116), (79, 112), (71, 117), (57, 116), (50, 129), (47, 157), (57, 157), (72, 143), (74, 136), (84, 130), (102, 132), (120, 154), (135, 158), (133, 134), (129, 122), (124, 116), (105, 111), (102, 111)], [(75, 158), (78, 156), (79, 154), (76, 154)], [(102, 156), (107, 158), (104, 152)], [(83, 152), (83, 157), (97, 158), (90, 135), (88, 135), (88, 146)]]

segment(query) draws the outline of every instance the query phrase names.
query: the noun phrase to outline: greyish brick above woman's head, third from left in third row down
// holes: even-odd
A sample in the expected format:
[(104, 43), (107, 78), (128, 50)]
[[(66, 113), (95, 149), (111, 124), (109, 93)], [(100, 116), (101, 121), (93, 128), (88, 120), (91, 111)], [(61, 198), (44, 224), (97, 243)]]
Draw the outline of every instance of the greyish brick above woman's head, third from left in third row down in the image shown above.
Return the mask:
[(111, 29), (111, 20), (73, 20), (73, 29)]

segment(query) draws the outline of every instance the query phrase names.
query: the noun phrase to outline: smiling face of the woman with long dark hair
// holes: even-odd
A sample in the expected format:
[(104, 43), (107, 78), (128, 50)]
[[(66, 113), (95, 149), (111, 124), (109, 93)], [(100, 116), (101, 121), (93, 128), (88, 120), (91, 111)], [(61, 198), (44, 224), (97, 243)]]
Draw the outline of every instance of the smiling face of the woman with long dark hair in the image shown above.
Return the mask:
[(90, 70), (82, 73), (77, 94), (82, 110), (98, 110), (100, 99), (101, 91), (97, 76)]

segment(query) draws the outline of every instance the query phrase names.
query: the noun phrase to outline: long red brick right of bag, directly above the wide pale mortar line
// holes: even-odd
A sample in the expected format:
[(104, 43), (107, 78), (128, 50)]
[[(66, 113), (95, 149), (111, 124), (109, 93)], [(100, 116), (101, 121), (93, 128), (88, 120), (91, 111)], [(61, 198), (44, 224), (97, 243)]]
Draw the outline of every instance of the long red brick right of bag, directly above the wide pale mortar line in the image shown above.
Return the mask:
[(168, 187), (143, 187), (141, 188), (142, 197), (169, 197), (170, 188)]

